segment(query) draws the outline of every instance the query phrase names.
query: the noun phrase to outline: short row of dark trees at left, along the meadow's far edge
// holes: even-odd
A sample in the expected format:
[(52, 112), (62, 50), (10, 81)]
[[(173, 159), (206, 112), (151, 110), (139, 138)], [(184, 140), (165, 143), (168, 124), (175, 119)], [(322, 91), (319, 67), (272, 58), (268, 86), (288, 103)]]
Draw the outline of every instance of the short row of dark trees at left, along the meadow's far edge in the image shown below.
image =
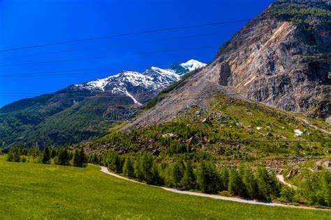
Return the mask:
[(85, 167), (87, 165), (87, 156), (83, 149), (68, 150), (46, 146), (43, 150), (15, 147), (8, 151), (8, 162), (30, 162), (30, 160), (41, 164), (51, 164), (53, 161), (54, 164), (63, 166)]

